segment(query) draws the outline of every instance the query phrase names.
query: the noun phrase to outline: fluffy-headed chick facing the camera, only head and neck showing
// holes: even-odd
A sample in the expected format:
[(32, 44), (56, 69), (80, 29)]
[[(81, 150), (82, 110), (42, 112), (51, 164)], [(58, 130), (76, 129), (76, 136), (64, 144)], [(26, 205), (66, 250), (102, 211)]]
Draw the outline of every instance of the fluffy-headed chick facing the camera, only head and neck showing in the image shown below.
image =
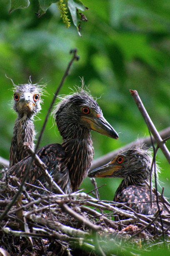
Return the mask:
[(10, 167), (28, 156), (24, 143), (28, 143), (34, 149), (35, 130), (33, 119), (41, 110), (41, 95), (43, 85), (28, 84), (14, 85), (13, 109), (17, 113), (17, 119), (13, 128), (13, 138), (10, 146)]

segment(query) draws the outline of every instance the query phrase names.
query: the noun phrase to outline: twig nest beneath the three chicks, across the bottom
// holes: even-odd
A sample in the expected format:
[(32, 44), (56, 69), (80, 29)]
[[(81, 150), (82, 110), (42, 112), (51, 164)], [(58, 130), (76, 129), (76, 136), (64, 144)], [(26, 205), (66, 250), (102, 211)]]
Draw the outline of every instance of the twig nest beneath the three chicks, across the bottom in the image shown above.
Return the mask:
[(1, 178), (2, 255), (145, 255), (165, 250), (165, 243), (170, 243), (168, 215), (161, 214), (161, 226), (158, 212), (142, 215), (81, 191), (31, 192), (29, 185), (14, 200), (19, 187), (16, 177)]

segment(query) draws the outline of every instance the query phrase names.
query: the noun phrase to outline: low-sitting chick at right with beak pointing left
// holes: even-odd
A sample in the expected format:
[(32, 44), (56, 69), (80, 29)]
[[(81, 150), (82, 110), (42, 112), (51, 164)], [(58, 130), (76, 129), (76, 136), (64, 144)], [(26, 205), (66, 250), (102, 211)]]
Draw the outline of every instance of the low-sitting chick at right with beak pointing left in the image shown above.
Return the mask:
[[(149, 150), (143, 145), (137, 145), (118, 154), (108, 164), (90, 171), (88, 177), (122, 178), (113, 201), (126, 203), (128, 207), (143, 215), (152, 215), (158, 210), (156, 196), (153, 194), (153, 205), (150, 207), (150, 189), (145, 183), (150, 179), (152, 159)], [(157, 164), (156, 172), (158, 176), (160, 169)], [(162, 203), (159, 205), (160, 209), (168, 214)]]

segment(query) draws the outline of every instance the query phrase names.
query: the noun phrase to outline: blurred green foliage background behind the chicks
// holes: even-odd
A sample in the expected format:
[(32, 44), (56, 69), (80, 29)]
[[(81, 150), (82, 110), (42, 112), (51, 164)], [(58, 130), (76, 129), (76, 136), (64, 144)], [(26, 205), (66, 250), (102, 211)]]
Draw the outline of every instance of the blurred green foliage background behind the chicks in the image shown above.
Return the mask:
[[(119, 133), (119, 140), (92, 132), (95, 159), (138, 137), (148, 136), (147, 126), (129, 89), (138, 91), (158, 131), (170, 125), (170, 2), (168, 0), (83, 0), (88, 6), (82, 37), (71, 25), (65, 28), (56, 4), (37, 18), (36, 1), (10, 15), (8, 0), (0, 1), (0, 156), (8, 159), (16, 118), (11, 105), (15, 84), (47, 82), (42, 111), (35, 121), (38, 133), (47, 109), (67, 67), (72, 48), (80, 61), (73, 64), (60, 94), (72, 92), (84, 77), (92, 96), (107, 121)], [(71, 17), (70, 17), (71, 18)], [(57, 101), (56, 101), (57, 102)], [(40, 119), (40, 120), (39, 120)], [(61, 143), (52, 118), (48, 120), (41, 146)], [(170, 149), (170, 142), (167, 142)], [(170, 166), (163, 154), (157, 156), (170, 197)], [(100, 197), (112, 200), (119, 179), (96, 179)], [(82, 183), (85, 192), (93, 189), (90, 179)]]

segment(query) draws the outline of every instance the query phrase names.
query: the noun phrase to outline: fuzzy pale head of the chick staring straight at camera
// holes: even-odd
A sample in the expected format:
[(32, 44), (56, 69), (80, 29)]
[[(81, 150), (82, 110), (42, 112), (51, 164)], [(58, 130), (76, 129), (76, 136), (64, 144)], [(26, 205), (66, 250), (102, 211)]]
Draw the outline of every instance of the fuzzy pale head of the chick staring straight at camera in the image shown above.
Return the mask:
[(42, 90), (37, 84), (15, 85), (13, 109), (19, 115), (36, 115), (41, 110)]

